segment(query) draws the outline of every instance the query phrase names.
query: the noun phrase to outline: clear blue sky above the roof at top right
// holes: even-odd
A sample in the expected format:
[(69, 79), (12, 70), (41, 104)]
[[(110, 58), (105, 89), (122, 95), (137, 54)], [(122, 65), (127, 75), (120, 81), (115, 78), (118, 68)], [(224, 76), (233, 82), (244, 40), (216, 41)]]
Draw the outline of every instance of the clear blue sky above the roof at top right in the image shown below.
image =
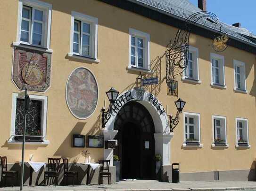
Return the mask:
[[(198, 0), (189, 0), (198, 6)], [(215, 13), (223, 23), (241, 23), (256, 34), (256, 0), (207, 0), (207, 11)]]

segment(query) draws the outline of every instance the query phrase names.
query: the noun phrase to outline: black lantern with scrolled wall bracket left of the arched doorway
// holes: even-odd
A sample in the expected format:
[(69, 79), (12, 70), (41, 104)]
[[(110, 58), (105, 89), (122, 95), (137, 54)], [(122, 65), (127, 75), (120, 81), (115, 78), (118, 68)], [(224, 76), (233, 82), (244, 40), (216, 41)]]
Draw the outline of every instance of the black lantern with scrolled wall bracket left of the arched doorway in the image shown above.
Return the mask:
[[(116, 102), (119, 92), (115, 88), (111, 87), (110, 90), (106, 92), (107, 98), (110, 101), (107, 111), (105, 111), (105, 106), (102, 108), (102, 128), (105, 128), (106, 123), (112, 114), (112, 105)], [(105, 102), (104, 102), (105, 103)], [(105, 105), (105, 104), (104, 104)]]

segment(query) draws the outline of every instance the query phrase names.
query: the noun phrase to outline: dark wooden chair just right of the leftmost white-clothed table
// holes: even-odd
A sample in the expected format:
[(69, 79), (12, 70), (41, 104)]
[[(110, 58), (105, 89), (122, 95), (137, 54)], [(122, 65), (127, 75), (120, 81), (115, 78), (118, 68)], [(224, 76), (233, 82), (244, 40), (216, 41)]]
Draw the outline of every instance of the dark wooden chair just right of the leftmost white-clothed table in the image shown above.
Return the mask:
[(58, 171), (59, 171), (60, 158), (48, 158), (48, 171), (44, 171), (43, 185), (45, 185), (45, 179), (47, 178), (47, 184), (49, 178), (54, 178), (54, 185), (58, 184)]

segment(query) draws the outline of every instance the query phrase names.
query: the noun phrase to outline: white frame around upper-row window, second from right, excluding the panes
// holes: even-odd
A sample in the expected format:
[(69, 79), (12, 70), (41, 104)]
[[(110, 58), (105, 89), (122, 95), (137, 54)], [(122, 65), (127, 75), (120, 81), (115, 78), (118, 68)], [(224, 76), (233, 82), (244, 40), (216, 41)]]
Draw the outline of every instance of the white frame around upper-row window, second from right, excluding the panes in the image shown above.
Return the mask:
[[(225, 59), (223, 55), (211, 53), (211, 86), (219, 87), (226, 89), (226, 83), (225, 83)], [(215, 84), (213, 82), (213, 63), (212, 60), (218, 60), (219, 61), (219, 84)]]

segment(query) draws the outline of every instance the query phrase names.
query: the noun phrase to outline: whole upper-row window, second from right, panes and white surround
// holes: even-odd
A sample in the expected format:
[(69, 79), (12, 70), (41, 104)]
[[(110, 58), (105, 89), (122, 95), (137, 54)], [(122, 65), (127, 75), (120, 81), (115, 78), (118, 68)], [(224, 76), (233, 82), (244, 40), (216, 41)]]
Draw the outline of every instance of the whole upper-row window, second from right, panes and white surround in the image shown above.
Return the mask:
[(211, 53), (211, 85), (225, 87), (224, 56)]

